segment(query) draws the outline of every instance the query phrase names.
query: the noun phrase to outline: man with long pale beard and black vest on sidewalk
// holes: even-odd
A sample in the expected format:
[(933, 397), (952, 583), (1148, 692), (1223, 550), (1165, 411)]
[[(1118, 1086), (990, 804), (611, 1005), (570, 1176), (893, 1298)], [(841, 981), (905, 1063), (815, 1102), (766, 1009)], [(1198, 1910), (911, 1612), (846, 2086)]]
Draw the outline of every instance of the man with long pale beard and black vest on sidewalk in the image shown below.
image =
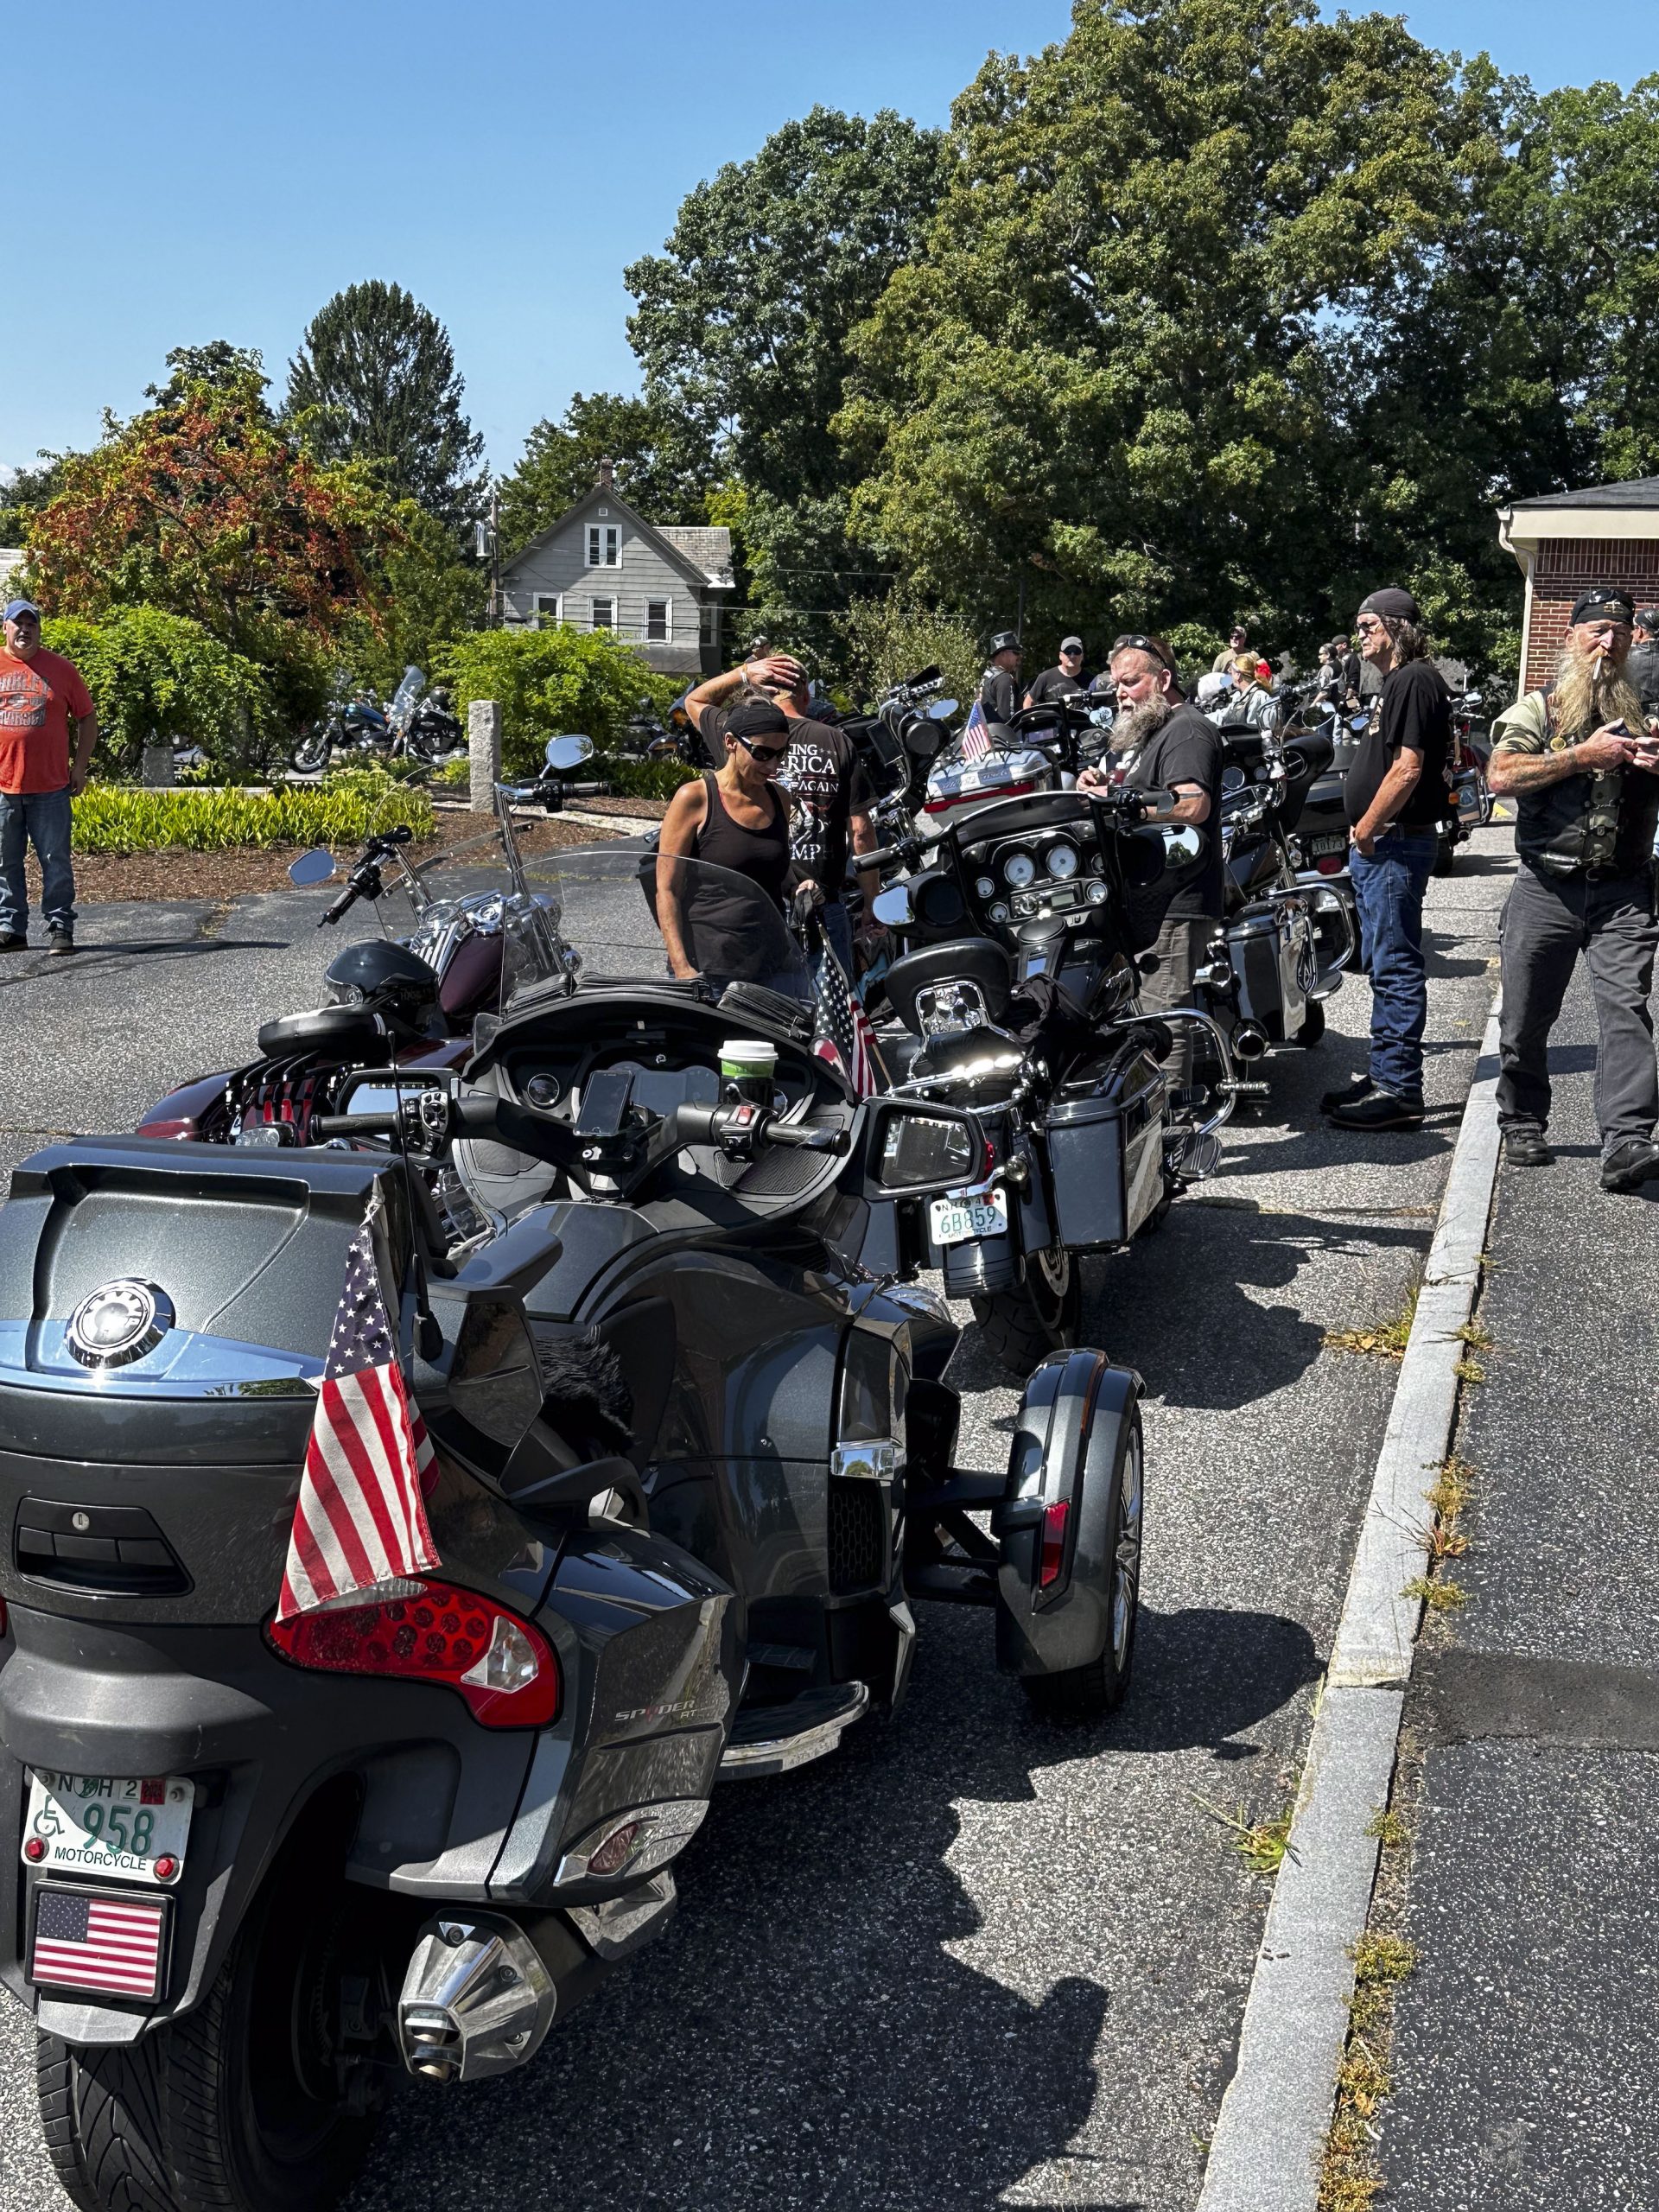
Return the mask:
[(1632, 606), (1586, 591), (1573, 608), (1553, 684), (1493, 723), (1486, 781), (1513, 796), (1520, 869), (1502, 922), (1504, 1015), (1498, 1121), (1517, 1168), (1546, 1168), (1548, 1037), (1579, 953), (1590, 969), (1601, 1046), (1595, 1117), (1601, 1188), (1659, 1175), (1655, 1071), (1652, 832), (1659, 818), (1659, 726), (1626, 672)]

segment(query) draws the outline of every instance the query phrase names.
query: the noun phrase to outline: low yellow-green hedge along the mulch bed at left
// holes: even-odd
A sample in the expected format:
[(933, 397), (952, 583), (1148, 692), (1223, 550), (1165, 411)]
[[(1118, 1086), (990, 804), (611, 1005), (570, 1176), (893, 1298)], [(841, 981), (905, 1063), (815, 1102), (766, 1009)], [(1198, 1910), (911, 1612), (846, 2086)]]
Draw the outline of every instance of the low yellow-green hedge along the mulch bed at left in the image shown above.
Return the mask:
[(418, 838), (438, 823), (425, 792), (385, 787), (288, 792), (148, 792), (93, 783), (75, 801), (75, 852), (226, 852), (232, 845), (361, 845), (407, 823)]

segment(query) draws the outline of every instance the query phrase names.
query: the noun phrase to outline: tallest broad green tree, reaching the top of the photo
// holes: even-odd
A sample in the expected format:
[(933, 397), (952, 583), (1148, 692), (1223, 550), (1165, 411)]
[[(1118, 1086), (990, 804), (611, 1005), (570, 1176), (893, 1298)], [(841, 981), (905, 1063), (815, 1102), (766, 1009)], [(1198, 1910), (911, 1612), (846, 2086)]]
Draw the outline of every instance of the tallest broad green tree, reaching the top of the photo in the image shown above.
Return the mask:
[[(989, 628), (1332, 619), (1352, 330), (1495, 157), (1398, 18), (1079, 0), (953, 111), (922, 252), (852, 341), (854, 526)], [(1294, 622), (1292, 622), (1294, 617)]]

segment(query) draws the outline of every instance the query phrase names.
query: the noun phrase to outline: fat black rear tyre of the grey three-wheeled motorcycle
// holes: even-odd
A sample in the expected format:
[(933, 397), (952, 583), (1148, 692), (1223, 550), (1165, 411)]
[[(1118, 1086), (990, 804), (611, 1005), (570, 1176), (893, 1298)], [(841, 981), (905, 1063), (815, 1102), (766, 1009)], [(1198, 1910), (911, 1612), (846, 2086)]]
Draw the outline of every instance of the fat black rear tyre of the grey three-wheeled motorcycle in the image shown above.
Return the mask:
[(323, 2212), (349, 2188), (378, 2119), (338, 2066), (345, 1885), (319, 1898), (301, 1856), (195, 2011), (119, 2048), (40, 2037), (46, 2150), (82, 2212)]

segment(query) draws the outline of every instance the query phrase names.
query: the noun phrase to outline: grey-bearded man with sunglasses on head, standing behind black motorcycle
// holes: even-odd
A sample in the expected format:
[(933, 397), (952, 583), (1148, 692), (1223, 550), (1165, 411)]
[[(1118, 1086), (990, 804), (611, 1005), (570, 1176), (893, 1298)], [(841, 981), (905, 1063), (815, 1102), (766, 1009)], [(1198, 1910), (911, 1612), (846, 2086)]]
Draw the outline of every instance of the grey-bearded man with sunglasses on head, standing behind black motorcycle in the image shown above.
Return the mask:
[[(1113, 752), (1121, 781), (1137, 790), (1175, 792), (1175, 821), (1192, 823), (1201, 858), (1170, 872), (1150, 891), (1130, 900), (1130, 922), (1150, 942), (1157, 967), (1141, 984), (1146, 1013), (1192, 1004), (1192, 975), (1208, 960), (1210, 938), (1221, 922), (1221, 739), (1214, 726), (1188, 706), (1175, 677), (1170, 648), (1159, 637), (1119, 637), (1110, 659), (1117, 686)], [(1077, 783), (1099, 790), (1119, 781), (1113, 770), (1086, 768)], [(1192, 1029), (1181, 1022), (1166, 1062), (1175, 1091), (1192, 1084)]]

